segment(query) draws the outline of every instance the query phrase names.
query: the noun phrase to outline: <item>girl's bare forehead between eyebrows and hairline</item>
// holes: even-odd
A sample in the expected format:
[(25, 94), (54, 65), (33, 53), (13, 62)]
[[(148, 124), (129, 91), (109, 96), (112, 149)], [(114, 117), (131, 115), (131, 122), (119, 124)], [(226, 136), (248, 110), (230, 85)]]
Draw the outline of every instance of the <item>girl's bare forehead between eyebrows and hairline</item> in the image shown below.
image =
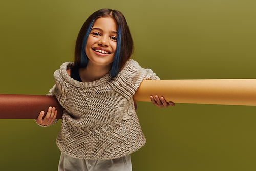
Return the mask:
[(100, 28), (103, 31), (115, 31), (117, 32), (117, 25), (111, 17), (101, 17), (96, 19), (92, 28)]

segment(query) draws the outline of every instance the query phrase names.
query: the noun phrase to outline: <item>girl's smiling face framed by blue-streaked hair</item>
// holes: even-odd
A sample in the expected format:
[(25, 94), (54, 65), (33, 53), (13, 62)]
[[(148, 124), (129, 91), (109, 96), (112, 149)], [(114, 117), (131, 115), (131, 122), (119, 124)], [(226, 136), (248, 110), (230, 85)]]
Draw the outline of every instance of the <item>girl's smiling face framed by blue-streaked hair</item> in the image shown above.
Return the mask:
[(111, 17), (98, 18), (91, 29), (86, 43), (88, 65), (108, 66), (114, 60), (117, 45), (117, 25)]

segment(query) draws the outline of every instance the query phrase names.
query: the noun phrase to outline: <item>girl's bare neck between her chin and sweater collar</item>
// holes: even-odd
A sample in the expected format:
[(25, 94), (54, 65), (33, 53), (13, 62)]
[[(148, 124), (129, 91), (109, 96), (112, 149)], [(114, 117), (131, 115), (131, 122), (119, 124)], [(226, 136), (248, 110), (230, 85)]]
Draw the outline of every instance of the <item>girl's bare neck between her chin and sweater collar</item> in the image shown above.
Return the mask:
[(111, 69), (111, 64), (108, 66), (96, 66), (88, 62), (87, 66), (79, 69), (79, 75), (82, 82), (92, 82), (104, 77)]

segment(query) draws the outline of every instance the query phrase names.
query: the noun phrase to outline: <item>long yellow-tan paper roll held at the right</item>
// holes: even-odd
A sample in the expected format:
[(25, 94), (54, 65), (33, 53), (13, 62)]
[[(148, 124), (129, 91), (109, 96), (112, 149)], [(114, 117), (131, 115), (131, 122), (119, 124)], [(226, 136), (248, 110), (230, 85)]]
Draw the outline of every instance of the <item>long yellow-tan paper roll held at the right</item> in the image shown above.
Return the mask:
[(151, 101), (151, 95), (174, 103), (256, 106), (256, 79), (145, 80), (134, 100)]

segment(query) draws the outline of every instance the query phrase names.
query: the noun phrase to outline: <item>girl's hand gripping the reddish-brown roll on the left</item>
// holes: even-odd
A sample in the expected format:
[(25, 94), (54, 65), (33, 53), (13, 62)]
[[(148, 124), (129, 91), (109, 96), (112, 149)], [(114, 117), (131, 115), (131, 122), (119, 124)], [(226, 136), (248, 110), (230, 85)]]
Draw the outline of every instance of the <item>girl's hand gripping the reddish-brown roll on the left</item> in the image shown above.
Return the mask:
[(41, 111), (39, 116), (37, 117), (37, 119), (35, 119), (37, 124), (40, 125), (51, 125), (53, 123), (53, 121), (56, 119), (58, 111), (56, 110), (55, 107), (49, 107), (48, 108), (48, 112), (46, 114), (46, 116), (44, 117), (44, 119), (42, 119), (42, 117), (44, 116), (45, 112)]

